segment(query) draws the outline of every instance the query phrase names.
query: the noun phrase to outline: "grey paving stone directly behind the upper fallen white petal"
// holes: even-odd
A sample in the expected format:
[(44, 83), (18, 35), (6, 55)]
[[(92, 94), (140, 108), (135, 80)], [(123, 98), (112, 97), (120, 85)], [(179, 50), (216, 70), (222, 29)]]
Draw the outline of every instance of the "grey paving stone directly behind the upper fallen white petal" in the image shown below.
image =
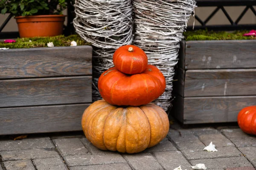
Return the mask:
[(229, 139), (216, 129), (201, 128), (193, 131), (205, 145), (209, 145), (212, 142), (215, 147), (234, 146)]

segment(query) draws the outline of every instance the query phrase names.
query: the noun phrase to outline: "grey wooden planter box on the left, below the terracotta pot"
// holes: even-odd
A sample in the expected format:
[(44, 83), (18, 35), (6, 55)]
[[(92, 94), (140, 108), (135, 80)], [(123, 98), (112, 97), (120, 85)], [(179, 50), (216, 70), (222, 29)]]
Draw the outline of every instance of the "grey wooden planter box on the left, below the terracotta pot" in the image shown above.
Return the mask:
[(91, 61), (87, 45), (0, 51), (0, 135), (81, 130)]

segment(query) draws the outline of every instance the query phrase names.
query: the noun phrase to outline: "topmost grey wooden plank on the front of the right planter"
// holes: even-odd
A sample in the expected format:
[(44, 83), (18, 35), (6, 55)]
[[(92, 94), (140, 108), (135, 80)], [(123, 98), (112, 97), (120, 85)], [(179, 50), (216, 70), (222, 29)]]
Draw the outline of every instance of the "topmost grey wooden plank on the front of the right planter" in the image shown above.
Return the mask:
[(187, 41), (186, 69), (256, 68), (256, 40)]

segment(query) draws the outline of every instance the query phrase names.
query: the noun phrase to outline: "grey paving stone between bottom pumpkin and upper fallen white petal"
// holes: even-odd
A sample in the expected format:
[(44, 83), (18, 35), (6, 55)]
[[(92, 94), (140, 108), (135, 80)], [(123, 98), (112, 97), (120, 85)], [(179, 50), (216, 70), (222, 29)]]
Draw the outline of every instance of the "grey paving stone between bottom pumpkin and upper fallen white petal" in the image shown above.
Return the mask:
[(175, 142), (180, 150), (205, 147), (205, 145), (192, 133), (191, 130), (180, 129), (179, 131), (180, 132), (177, 130), (169, 130), (168, 138)]

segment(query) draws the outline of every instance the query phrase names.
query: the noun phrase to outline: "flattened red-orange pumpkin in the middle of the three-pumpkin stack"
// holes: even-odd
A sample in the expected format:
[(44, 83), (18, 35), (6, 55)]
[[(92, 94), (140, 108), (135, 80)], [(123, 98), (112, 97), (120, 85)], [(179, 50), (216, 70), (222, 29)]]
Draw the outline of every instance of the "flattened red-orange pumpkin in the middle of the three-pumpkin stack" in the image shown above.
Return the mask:
[(102, 73), (98, 81), (103, 99), (112, 105), (146, 105), (163, 94), (166, 81), (162, 72), (148, 65), (141, 74), (123, 74), (115, 67)]

